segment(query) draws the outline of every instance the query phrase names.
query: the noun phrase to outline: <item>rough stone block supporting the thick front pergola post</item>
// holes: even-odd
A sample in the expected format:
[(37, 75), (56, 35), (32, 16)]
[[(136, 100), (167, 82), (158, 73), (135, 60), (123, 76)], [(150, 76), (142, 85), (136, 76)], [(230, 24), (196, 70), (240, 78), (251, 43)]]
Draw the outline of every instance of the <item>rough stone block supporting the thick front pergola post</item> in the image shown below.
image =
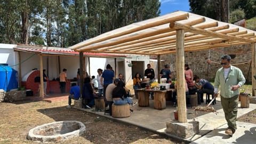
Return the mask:
[(178, 121), (166, 122), (166, 133), (181, 137), (189, 138), (199, 133), (199, 122), (191, 121), (188, 123), (179, 123)]

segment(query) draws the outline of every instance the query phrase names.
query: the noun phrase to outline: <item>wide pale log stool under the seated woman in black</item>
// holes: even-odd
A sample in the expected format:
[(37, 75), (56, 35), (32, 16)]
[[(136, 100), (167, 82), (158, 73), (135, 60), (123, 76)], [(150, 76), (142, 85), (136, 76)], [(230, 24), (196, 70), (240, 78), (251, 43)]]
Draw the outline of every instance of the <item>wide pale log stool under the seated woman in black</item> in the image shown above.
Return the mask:
[(127, 103), (125, 105), (112, 105), (112, 117), (124, 118), (130, 116), (130, 105)]

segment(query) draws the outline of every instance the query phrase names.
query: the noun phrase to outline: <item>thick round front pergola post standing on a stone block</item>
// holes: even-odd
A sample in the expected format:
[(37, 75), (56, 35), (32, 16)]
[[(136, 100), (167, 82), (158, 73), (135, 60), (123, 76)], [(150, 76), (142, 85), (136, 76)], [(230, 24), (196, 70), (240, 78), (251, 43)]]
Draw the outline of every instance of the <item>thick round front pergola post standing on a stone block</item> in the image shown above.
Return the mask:
[(185, 90), (185, 52), (184, 30), (176, 30), (176, 75), (177, 75), (177, 102), (179, 122), (187, 122), (186, 90)]

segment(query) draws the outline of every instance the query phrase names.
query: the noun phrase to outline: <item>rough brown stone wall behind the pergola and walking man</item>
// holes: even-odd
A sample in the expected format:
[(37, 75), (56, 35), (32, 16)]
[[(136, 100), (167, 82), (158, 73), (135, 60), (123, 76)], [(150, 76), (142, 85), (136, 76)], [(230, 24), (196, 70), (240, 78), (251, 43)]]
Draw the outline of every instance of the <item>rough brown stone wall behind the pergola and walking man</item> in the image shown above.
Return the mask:
[[(224, 47), (217, 50), (228, 52), (227, 54), (236, 54), (236, 57), (233, 59), (234, 61), (237, 61), (238, 59), (241, 61), (246, 61), (247, 57), (251, 58), (251, 55), (248, 56), (243, 54), (243, 53), (247, 53), (248, 51), (251, 51), (251, 45)], [(221, 57), (221, 56), (222, 55), (217, 55), (215, 57)], [(213, 81), (215, 77), (215, 73), (221, 67), (221, 65), (219, 65), (219, 63), (213, 63), (213, 62), (210, 62), (210, 64), (208, 64), (207, 63), (208, 57), (209, 57), (209, 50), (185, 52), (185, 63), (187, 63), (189, 65), (189, 68), (193, 70), (194, 75)], [(164, 68), (164, 65), (166, 63), (169, 64), (172, 74), (175, 77), (176, 54), (174, 53), (174, 54), (161, 55), (161, 60), (165, 60), (165, 61), (161, 61), (161, 69)], [(252, 71), (251, 71), (252, 68), (250, 67), (250, 62), (243, 63), (240, 65), (234, 65), (234, 66), (242, 70), (244, 77), (246, 78), (246, 82), (252, 82)]]

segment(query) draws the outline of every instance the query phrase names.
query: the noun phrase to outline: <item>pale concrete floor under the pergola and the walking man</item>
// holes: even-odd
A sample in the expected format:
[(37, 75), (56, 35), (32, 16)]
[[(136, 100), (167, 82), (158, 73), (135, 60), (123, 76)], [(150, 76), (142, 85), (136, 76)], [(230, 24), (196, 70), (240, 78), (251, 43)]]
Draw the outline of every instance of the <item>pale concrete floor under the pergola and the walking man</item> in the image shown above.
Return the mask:
[[(138, 99), (133, 98), (133, 102), (137, 102)], [(206, 106), (205, 103), (202, 103), (201, 106)], [(188, 139), (183, 139), (180, 137), (176, 137), (175, 135), (171, 135), (165, 132), (166, 129), (166, 122), (168, 121), (175, 121), (174, 120), (174, 114), (173, 111), (177, 109), (176, 107), (172, 106), (172, 102), (166, 101), (166, 109), (163, 110), (157, 110), (154, 109), (154, 103), (153, 100), (150, 99), (149, 101), (149, 107), (139, 107), (138, 105), (135, 105), (134, 107), (131, 107), (133, 109), (133, 113), (131, 114), (130, 117), (127, 118), (113, 118), (109, 116), (108, 113), (104, 115), (104, 112), (102, 111), (94, 111), (93, 109), (83, 109), (83, 108), (78, 108), (81, 110), (88, 111), (89, 113), (94, 113), (97, 115), (105, 116), (107, 118), (113, 119), (114, 121), (119, 121), (125, 124), (132, 124), (138, 127), (141, 127), (142, 129), (147, 129), (150, 131), (153, 131), (155, 133), (167, 135), (169, 137), (173, 138), (178, 138), (183, 141), (188, 141), (188, 142), (196, 142), (196, 143), (201, 143), (202, 140), (206, 139), (206, 141), (209, 138), (212, 138), (212, 142), (215, 143), (213, 140), (214, 138), (219, 138), (221, 137), (222, 140), (226, 140), (228, 137), (226, 137), (225, 130), (226, 130), (226, 119), (220, 104), (220, 98), (217, 98), (217, 104), (212, 105), (215, 110), (217, 110), (218, 114), (214, 113), (206, 113), (202, 111), (197, 111), (196, 112), (196, 117), (195, 121), (199, 122), (199, 133), (194, 135), (191, 138)], [(250, 103), (250, 108), (241, 108), (240, 103), (238, 104), (238, 117), (249, 113), (250, 111), (256, 109), (256, 104)], [(191, 108), (187, 108), (187, 118), (188, 122), (189, 121), (194, 121), (194, 114), (195, 111)], [(239, 125), (241, 125), (241, 122), (238, 122)], [(236, 131), (236, 133), (233, 136), (233, 139), (238, 139), (239, 137), (247, 137), (243, 136), (246, 133), (246, 131), (254, 131), (254, 136), (255, 135), (255, 125), (253, 124), (244, 124), (246, 127), (239, 126)], [(253, 128), (254, 127), (254, 128)], [(225, 128), (225, 129), (224, 129)], [(251, 130), (250, 130), (251, 129)], [(246, 133), (245, 133), (246, 132)], [(205, 136), (204, 136), (205, 135)], [(211, 137), (207, 135), (212, 135)], [(215, 136), (216, 135), (216, 136)], [(199, 139), (200, 138), (200, 139)], [(252, 137), (249, 137), (252, 138)], [(199, 141), (199, 142), (197, 142)], [(256, 141), (256, 137), (254, 137), (254, 141)], [(227, 143), (227, 141), (223, 141), (222, 143)], [(207, 142), (209, 143), (209, 141)]]

